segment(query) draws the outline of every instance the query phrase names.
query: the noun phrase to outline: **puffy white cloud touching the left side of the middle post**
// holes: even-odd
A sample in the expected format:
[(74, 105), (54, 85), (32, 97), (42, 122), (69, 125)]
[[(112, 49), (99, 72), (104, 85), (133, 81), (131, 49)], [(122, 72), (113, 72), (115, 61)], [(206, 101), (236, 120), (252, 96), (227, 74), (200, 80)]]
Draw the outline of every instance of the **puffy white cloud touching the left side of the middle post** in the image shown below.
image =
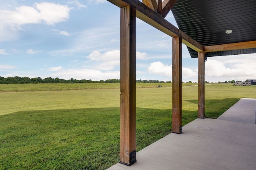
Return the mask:
[(150, 64), (148, 72), (164, 77), (172, 77), (172, 65), (164, 65), (162, 62), (157, 61)]

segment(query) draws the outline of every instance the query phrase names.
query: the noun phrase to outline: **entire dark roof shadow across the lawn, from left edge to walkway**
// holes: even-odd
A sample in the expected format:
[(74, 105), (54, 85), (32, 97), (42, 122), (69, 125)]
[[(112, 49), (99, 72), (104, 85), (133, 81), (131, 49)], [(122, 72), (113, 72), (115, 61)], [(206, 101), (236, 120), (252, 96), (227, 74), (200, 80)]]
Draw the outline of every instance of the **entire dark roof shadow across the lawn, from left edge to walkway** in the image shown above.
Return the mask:
[[(206, 100), (215, 118), (239, 99)], [(187, 100), (197, 103), (197, 100)], [(119, 161), (120, 109), (20, 111), (0, 116), (0, 169), (106, 169)], [(197, 111), (182, 110), (182, 126)], [(136, 150), (172, 131), (172, 111), (136, 109)]]

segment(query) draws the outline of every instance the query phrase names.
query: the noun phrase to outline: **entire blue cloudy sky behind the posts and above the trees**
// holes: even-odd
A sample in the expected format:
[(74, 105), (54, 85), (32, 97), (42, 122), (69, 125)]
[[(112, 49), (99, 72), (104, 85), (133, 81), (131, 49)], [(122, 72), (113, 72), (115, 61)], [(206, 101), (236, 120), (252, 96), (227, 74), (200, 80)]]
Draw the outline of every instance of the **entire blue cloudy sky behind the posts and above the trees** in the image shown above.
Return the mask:
[[(0, 0), (0, 21), (2, 77), (120, 79), (120, 8), (106, 0)], [(172, 38), (139, 19), (136, 29), (136, 79), (172, 80)], [(255, 65), (256, 54), (209, 57), (205, 80), (256, 79)], [(198, 81), (185, 45), (182, 81)]]

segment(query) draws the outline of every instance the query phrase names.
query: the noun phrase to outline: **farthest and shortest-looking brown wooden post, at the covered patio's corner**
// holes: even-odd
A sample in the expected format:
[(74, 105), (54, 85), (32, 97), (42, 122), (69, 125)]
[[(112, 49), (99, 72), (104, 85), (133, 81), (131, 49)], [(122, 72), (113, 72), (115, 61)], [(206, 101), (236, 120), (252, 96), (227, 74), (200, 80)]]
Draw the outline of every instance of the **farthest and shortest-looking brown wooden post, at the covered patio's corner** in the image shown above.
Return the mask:
[(204, 52), (198, 52), (198, 118), (204, 118)]

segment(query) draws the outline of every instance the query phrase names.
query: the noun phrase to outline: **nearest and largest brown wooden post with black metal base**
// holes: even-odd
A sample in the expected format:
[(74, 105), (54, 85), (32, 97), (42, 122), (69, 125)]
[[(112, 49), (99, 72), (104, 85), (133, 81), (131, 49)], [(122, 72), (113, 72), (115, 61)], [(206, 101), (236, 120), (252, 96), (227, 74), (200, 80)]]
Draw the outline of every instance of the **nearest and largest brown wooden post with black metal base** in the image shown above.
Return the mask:
[(121, 8), (120, 163), (136, 162), (136, 9)]

